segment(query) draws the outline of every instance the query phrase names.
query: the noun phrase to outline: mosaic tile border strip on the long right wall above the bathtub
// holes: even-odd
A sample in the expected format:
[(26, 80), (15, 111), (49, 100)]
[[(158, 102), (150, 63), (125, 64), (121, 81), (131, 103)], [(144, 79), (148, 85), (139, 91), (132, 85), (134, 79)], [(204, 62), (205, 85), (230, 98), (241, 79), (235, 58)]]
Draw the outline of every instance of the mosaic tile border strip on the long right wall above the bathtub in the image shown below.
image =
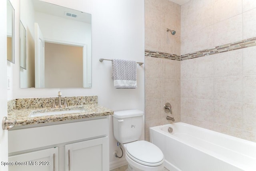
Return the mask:
[(181, 56), (181, 61), (256, 46), (256, 37)]

